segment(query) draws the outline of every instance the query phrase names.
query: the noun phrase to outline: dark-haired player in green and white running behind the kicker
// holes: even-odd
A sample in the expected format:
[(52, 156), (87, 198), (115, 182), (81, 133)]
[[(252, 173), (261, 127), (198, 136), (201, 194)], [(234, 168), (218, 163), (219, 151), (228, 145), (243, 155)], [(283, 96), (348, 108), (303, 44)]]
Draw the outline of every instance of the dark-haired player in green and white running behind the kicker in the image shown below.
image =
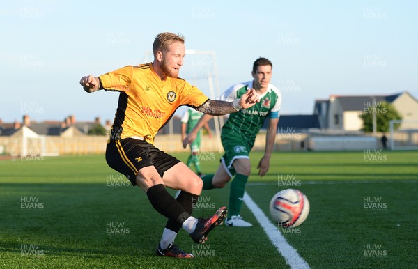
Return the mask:
[[(225, 154), (221, 158), (221, 164), (215, 175), (203, 176), (203, 190), (224, 187), (231, 178), (231, 190), (229, 195), (229, 217), (226, 220), (228, 226), (252, 226), (251, 223), (242, 220), (240, 209), (247, 183), (251, 172), (249, 152), (254, 146), (256, 136), (263, 125), (265, 118), (269, 118), (268, 130), (265, 141), (265, 153), (258, 163), (258, 175), (264, 176), (270, 167), (270, 156), (272, 154), (274, 140), (277, 134), (279, 123), (279, 110), (281, 107), (281, 93), (279, 89), (270, 84), (272, 77), (272, 63), (265, 58), (259, 58), (254, 62), (251, 72), (254, 80), (235, 84), (226, 90), (218, 99), (235, 100), (249, 89), (255, 89), (260, 102), (249, 109), (239, 110), (230, 114), (228, 121), (222, 127), (222, 145)], [(202, 116), (194, 129), (187, 134), (183, 140), (183, 147), (194, 141), (196, 132), (207, 123), (212, 116)]]

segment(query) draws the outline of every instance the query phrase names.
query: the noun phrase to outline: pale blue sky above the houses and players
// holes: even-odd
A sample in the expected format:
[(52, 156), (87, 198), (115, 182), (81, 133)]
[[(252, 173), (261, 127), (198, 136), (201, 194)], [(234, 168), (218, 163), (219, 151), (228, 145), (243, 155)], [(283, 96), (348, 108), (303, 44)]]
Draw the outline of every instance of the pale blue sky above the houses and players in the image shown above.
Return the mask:
[[(270, 59), (281, 114), (311, 114), (334, 94), (418, 98), (417, 10), (405, 0), (2, 1), (0, 119), (113, 120), (118, 94), (85, 93), (79, 79), (143, 63), (163, 31), (215, 52), (220, 91), (251, 79), (258, 56)], [(192, 59), (180, 77), (192, 80)]]

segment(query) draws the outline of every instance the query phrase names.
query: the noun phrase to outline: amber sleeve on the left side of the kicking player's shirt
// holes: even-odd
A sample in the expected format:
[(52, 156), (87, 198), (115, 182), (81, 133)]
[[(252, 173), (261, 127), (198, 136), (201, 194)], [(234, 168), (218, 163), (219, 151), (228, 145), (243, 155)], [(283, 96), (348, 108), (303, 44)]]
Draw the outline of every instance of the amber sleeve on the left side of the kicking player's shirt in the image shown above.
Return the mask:
[(106, 91), (127, 91), (132, 82), (133, 66), (125, 66), (99, 77), (100, 84)]

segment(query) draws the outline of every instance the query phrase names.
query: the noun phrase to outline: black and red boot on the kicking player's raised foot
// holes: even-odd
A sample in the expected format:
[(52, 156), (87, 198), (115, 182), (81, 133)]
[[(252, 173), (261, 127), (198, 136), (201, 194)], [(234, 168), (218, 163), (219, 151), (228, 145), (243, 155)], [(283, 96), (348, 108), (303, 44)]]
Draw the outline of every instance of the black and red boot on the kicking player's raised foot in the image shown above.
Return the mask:
[(212, 217), (199, 218), (196, 228), (190, 233), (194, 242), (204, 243), (208, 233), (216, 226), (224, 223), (226, 215), (228, 215), (228, 209), (226, 209), (226, 206), (222, 206), (222, 208), (219, 208)]

